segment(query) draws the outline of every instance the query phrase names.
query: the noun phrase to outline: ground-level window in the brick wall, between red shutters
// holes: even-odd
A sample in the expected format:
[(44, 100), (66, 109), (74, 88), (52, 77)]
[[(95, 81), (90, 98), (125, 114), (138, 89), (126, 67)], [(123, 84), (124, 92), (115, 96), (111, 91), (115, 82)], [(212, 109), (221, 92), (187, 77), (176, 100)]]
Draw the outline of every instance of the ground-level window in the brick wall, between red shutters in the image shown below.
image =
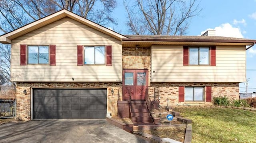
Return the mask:
[(204, 87), (185, 87), (185, 101), (203, 101)]

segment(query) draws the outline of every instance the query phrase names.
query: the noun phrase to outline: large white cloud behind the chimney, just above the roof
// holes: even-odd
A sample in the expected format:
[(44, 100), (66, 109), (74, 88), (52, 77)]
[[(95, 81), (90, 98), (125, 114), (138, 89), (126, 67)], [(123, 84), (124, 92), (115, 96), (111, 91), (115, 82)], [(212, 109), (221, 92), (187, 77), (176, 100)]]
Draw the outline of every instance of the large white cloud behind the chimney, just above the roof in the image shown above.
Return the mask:
[(215, 36), (244, 38), (240, 28), (239, 27), (233, 27), (229, 23), (221, 24), (220, 26), (217, 26), (214, 29), (208, 28), (208, 29), (202, 31), (201, 35), (204, 34), (207, 30), (215, 30)]

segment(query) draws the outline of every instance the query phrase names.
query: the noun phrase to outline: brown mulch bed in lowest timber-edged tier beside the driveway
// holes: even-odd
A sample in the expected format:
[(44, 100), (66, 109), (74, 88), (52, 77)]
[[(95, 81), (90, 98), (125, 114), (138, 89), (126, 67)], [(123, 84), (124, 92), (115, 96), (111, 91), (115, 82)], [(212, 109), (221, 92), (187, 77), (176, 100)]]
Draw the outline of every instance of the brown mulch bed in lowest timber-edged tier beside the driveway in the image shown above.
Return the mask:
[(180, 141), (183, 143), (185, 138), (186, 127), (153, 129), (153, 130), (147, 130), (142, 132), (148, 133), (150, 135), (154, 135), (157, 137), (161, 137), (161, 138), (168, 137), (170, 139), (174, 139), (176, 141)]

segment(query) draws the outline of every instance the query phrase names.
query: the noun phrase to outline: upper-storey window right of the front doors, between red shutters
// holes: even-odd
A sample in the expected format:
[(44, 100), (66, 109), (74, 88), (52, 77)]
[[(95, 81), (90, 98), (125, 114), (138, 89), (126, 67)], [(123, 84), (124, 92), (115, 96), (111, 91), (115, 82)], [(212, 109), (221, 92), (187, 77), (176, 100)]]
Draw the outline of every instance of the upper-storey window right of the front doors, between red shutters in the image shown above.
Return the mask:
[(190, 65), (209, 65), (209, 48), (189, 48)]

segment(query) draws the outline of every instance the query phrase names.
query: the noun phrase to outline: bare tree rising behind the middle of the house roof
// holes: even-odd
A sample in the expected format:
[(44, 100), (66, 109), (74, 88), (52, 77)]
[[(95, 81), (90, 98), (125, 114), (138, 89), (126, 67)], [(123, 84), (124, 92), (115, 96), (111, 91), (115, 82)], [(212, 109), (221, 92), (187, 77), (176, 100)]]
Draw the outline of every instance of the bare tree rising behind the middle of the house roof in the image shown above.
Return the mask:
[(197, 0), (124, 0), (127, 26), (136, 35), (184, 35), (197, 16)]

